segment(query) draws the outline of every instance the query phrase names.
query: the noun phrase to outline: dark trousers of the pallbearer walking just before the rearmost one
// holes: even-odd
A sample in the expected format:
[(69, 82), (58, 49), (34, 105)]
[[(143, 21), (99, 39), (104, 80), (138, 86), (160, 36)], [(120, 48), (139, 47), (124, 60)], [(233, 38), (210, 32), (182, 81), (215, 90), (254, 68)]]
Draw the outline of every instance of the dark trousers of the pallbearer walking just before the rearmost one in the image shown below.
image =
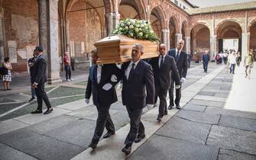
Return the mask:
[(155, 97), (159, 97), (159, 116), (163, 117), (164, 113), (167, 113), (167, 91), (168, 89), (162, 89), (160, 87), (155, 87)]

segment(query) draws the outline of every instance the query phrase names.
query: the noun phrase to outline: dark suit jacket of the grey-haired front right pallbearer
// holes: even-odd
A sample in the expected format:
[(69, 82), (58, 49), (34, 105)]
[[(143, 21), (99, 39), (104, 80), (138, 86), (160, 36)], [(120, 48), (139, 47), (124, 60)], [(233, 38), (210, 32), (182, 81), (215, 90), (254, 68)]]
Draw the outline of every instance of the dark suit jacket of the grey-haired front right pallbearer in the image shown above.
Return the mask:
[(151, 65), (140, 60), (134, 73), (127, 79), (125, 69), (129, 64), (130, 62), (127, 62), (122, 65), (122, 103), (131, 109), (141, 109), (146, 104), (154, 104), (154, 75)]

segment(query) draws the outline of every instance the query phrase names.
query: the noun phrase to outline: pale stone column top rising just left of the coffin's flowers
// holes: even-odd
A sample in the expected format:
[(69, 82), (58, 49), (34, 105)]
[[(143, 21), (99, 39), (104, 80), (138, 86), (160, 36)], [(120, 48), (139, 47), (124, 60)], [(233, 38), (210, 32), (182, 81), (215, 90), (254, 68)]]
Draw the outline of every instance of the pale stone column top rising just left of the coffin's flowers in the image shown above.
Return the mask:
[(111, 34), (111, 31), (115, 28), (120, 21), (120, 14), (118, 13), (107, 13), (105, 14), (105, 22), (107, 24), (107, 36)]

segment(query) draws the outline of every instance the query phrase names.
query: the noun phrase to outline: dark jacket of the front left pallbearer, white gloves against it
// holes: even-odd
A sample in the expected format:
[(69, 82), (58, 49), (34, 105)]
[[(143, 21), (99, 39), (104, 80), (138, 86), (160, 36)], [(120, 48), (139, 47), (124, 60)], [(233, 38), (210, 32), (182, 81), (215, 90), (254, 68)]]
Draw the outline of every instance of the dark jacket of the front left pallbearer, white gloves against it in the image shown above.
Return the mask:
[[(122, 78), (121, 69), (118, 69), (114, 64), (104, 65), (102, 66), (101, 78), (100, 82), (96, 82), (93, 79), (93, 72), (95, 71), (95, 65), (89, 68), (89, 77), (86, 87), (86, 98), (89, 99), (92, 94), (93, 104), (96, 106), (104, 107), (105, 105), (110, 105), (118, 101), (115, 91), (115, 85), (118, 84), (120, 79)], [(118, 78), (117, 82), (112, 82), (112, 75), (116, 75)], [(112, 84), (112, 88), (109, 91), (105, 91), (102, 89), (103, 85), (110, 83)]]

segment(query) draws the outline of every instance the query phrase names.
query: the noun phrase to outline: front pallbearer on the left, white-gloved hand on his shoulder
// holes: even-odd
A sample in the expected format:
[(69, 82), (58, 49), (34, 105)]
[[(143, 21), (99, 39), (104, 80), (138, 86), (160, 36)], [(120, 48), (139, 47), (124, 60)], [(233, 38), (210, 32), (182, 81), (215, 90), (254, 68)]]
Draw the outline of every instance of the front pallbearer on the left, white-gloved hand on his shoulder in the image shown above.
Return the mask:
[(89, 104), (89, 98), (92, 94), (93, 104), (96, 105), (98, 110), (96, 129), (92, 137), (92, 142), (89, 144), (89, 147), (92, 149), (96, 148), (104, 127), (108, 130), (105, 136), (103, 136), (104, 139), (115, 134), (115, 126), (109, 115), (109, 108), (111, 104), (118, 101), (115, 85), (118, 84), (122, 77), (121, 69), (118, 69), (115, 64), (97, 65), (97, 59), (97, 50), (93, 50), (93, 65), (89, 69), (86, 87), (86, 104)]

